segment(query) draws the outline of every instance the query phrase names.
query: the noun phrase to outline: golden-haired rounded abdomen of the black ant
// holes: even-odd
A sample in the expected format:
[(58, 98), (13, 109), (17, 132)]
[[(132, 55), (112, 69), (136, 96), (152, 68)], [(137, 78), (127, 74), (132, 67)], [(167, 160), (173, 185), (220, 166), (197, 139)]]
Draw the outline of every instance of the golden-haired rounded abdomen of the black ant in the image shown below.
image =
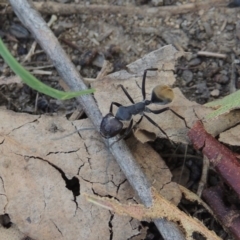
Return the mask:
[(172, 88), (167, 85), (157, 85), (152, 91), (151, 102), (165, 105), (172, 102), (173, 98)]

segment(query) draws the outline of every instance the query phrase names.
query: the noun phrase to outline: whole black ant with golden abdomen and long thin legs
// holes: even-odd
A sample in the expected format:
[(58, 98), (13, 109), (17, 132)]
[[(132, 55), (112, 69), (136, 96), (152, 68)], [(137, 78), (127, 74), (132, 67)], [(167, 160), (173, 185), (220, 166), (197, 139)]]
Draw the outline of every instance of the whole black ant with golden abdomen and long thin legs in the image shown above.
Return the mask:
[[(175, 115), (183, 119), (180, 115), (178, 115), (175, 111), (173, 111), (169, 107), (165, 107), (160, 110), (151, 110), (147, 106), (151, 103), (156, 104), (167, 104), (173, 100), (173, 92), (172, 90), (166, 86), (166, 85), (158, 85), (156, 86), (152, 91), (151, 100), (146, 99), (146, 91), (145, 91), (145, 82), (146, 82), (146, 76), (148, 71), (157, 71), (157, 68), (148, 68), (144, 70), (143, 73), (143, 79), (142, 79), (142, 96), (143, 100), (141, 102), (135, 103), (132, 99), (132, 97), (129, 95), (127, 90), (123, 87), (123, 85), (119, 85), (127, 98), (130, 100), (132, 105), (129, 106), (122, 106), (120, 103), (112, 102), (110, 105), (109, 113), (102, 119), (101, 125), (100, 125), (100, 133), (104, 138), (112, 138), (115, 137), (117, 134), (121, 132), (123, 129), (123, 123), (122, 121), (130, 121), (129, 126), (126, 128), (124, 134), (117, 140), (125, 138), (132, 129), (134, 129), (145, 117), (150, 123), (152, 123), (154, 126), (156, 126), (167, 138), (167, 134), (158, 126), (156, 122), (154, 122), (149, 116), (145, 114), (146, 113), (153, 113), (153, 114), (160, 114), (162, 112), (165, 112), (167, 110), (170, 110)], [(113, 115), (113, 105), (118, 107), (117, 113), (114, 116)], [(133, 115), (140, 114), (141, 118), (138, 120), (138, 122), (133, 126)], [(184, 120), (184, 119), (183, 119)], [(185, 120), (184, 120), (185, 121)]]

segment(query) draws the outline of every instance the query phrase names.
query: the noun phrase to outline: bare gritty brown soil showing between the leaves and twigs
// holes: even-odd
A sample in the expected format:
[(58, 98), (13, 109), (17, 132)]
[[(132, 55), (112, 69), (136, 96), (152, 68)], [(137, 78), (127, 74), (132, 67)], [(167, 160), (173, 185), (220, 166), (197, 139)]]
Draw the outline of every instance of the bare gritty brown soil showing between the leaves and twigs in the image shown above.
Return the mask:
[[(68, 4), (79, 1), (59, 0), (56, 2)], [(162, 5), (182, 6), (192, 2), (195, 1), (130, 0), (126, 3), (121, 0), (92, 0), (85, 1), (85, 4), (161, 7)], [(227, 1), (222, 7), (209, 4), (205, 9), (193, 9), (189, 13), (178, 15), (173, 15), (170, 12), (168, 17), (129, 15), (124, 12), (112, 14), (110, 11), (102, 14), (58, 15), (51, 29), (76, 68), (86, 78), (96, 78), (103, 59), (112, 62), (114, 72), (126, 68), (127, 64), (151, 51), (167, 44), (173, 44), (179, 51), (186, 52), (176, 65), (177, 81), (175, 86), (181, 88), (188, 99), (204, 104), (240, 88), (238, 60), (240, 55), (240, 20), (238, 9), (228, 8), (227, 4)], [(3, 7), (0, 8), (2, 13), (3, 9)], [(43, 15), (43, 17), (49, 21), (51, 16)], [(0, 14), (0, 18), (0, 36), (12, 54), (22, 62), (34, 39), (21, 25), (14, 13)], [(207, 53), (199, 54), (200, 51), (220, 53), (221, 55), (207, 56)], [(52, 87), (61, 89), (58, 84), (57, 72), (39, 46), (37, 46), (36, 54), (31, 57), (31, 60), (22, 65), (26, 68), (41, 66), (43, 70), (51, 71), (51, 75), (37, 75), (37, 77)], [(2, 59), (0, 59), (0, 72), (1, 77), (12, 75), (11, 70)], [(0, 106), (6, 106), (8, 109), (18, 112), (70, 116), (77, 108), (74, 100), (63, 102), (41, 94), (36, 98), (36, 91), (25, 85), (23, 87), (19, 84), (0, 85), (0, 89)], [(163, 143), (156, 145), (159, 148)], [(160, 150), (162, 151), (162, 149)], [(179, 154), (184, 152), (184, 150), (179, 151)], [(191, 149), (188, 152), (196, 154)], [(165, 154), (169, 154), (169, 152)], [(181, 160), (174, 167), (181, 166), (182, 162)], [(169, 164), (169, 167), (173, 168), (174, 164)], [(196, 169), (201, 171), (198, 170), (201, 168), (201, 164), (196, 163), (194, 159), (187, 161), (187, 164), (191, 165), (188, 167), (190, 175), (193, 175), (190, 187), (194, 189), (194, 181), (199, 179), (198, 176), (195, 176), (198, 175)], [(217, 179), (217, 177), (215, 178)], [(215, 181), (215, 178), (212, 177), (211, 181)], [(183, 206), (184, 204), (185, 206)], [(189, 212), (197, 211), (186, 202), (182, 203), (181, 207)], [(209, 216), (200, 215), (202, 221), (211, 221)], [(218, 235), (223, 239), (231, 239), (220, 226), (213, 228), (217, 229)], [(152, 225), (150, 229), (152, 230), (146, 239), (159, 239)]]

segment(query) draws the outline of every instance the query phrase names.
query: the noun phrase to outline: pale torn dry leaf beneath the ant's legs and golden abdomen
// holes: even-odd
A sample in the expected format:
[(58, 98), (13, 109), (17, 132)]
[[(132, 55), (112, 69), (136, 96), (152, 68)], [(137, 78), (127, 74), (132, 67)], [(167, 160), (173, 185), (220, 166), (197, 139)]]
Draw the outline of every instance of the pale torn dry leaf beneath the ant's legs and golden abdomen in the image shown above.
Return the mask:
[[(171, 45), (165, 46), (129, 64), (127, 70), (110, 74), (102, 80), (94, 82), (92, 87), (97, 89), (96, 93), (94, 93), (94, 97), (103, 115), (109, 112), (111, 102), (118, 102), (126, 106), (131, 105), (131, 102), (123, 93), (122, 89), (118, 87), (119, 84), (122, 84), (127, 89), (135, 102), (142, 101), (142, 77), (144, 70), (147, 68), (158, 68), (156, 72), (150, 71), (147, 73), (147, 99), (150, 99), (152, 89), (155, 86), (161, 84), (172, 86), (175, 82), (175, 62), (180, 55), (181, 54)], [(180, 115), (182, 119), (171, 111), (166, 111), (157, 115), (147, 113), (147, 115), (151, 117), (167, 133), (169, 139), (174, 142), (189, 143), (187, 132), (197, 120), (203, 120), (205, 128), (213, 136), (221, 134), (226, 129), (230, 129), (240, 122), (240, 111), (230, 112), (229, 114), (219, 116), (218, 119), (206, 120), (205, 117), (213, 112), (212, 109), (201, 106), (196, 102), (189, 101), (178, 88), (174, 88), (173, 92), (174, 99), (170, 104), (151, 104), (149, 108), (156, 110), (169, 106)], [(114, 107), (114, 112), (115, 111), (116, 108)], [(139, 118), (139, 115), (134, 116), (135, 121)], [(166, 138), (158, 128), (153, 126), (145, 118), (140, 123), (139, 129), (140, 131), (136, 132), (135, 136), (141, 142), (153, 140), (155, 137), (152, 134), (161, 138)], [(238, 144), (240, 144), (240, 141), (238, 141)]]

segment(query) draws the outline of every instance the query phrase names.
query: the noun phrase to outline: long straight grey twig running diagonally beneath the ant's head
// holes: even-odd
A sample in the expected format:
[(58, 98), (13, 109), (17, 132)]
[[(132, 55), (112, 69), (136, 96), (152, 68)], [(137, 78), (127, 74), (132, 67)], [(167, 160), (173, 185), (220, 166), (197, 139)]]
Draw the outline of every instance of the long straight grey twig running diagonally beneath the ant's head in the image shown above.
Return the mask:
[[(33, 9), (26, 0), (10, 0), (10, 3), (15, 14), (30, 30), (34, 38), (39, 42), (45, 53), (52, 60), (58, 70), (58, 73), (62, 79), (64, 79), (68, 87), (72, 91), (86, 89), (80, 74), (76, 71), (73, 63), (69, 60), (58, 40), (38, 12)], [(78, 97), (77, 101), (83, 107), (84, 111), (93, 122), (95, 128), (99, 131), (102, 114), (96, 106), (93, 97), (91, 95), (84, 95)], [(106, 145), (111, 145), (116, 140), (116, 138), (112, 138), (108, 143), (106, 139), (104, 139), (104, 142)], [(110, 150), (143, 204), (146, 207), (150, 207), (153, 202), (150, 189), (151, 185), (147, 182), (145, 175), (136, 163), (125, 142), (117, 142), (112, 145)], [(162, 219), (157, 219), (154, 222), (164, 239), (184, 239), (181, 231), (176, 225), (170, 222), (166, 224), (166, 222)]]

